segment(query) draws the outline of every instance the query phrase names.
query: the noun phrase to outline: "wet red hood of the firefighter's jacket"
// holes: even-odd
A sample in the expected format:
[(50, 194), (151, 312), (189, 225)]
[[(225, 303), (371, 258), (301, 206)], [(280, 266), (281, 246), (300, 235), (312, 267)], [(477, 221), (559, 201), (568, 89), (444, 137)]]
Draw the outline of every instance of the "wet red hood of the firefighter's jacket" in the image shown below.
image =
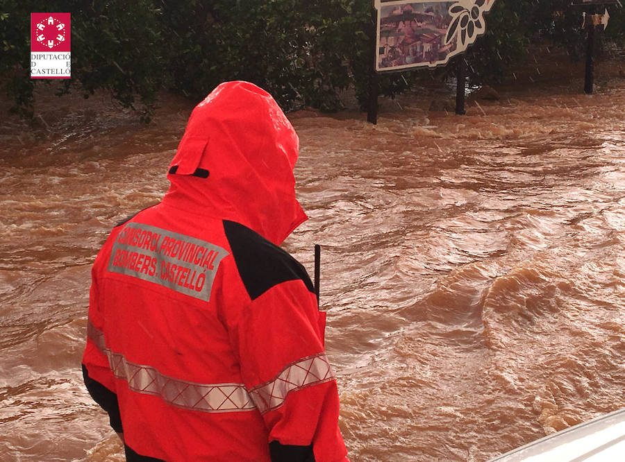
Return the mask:
[(271, 95), (226, 82), (191, 113), (163, 202), (236, 221), (276, 245), (308, 218), (295, 198), (299, 138)]

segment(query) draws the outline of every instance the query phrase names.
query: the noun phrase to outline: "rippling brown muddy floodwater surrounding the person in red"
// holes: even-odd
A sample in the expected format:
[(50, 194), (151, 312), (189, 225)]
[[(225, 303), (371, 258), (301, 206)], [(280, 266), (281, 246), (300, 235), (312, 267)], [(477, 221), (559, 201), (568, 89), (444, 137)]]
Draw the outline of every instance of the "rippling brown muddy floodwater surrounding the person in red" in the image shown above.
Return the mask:
[[(583, 75), (583, 74), (582, 74)], [(528, 81), (529, 82), (529, 81)], [(352, 461), (487, 461), (625, 407), (625, 78), (290, 114)], [(447, 93), (445, 93), (447, 92)], [(158, 202), (192, 105), (106, 96), (0, 122), (0, 459), (121, 461), (83, 388), (90, 266)], [(41, 117), (39, 117), (41, 116)]]

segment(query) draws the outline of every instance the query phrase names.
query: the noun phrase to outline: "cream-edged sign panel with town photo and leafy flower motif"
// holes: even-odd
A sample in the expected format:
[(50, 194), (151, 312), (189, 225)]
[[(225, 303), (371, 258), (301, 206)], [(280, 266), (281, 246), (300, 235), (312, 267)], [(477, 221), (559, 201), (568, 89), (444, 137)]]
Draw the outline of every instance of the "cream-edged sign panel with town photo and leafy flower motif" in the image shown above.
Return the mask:
[(384, 1), (378, 10), (377, 71), (444, 65), (486, 31), (494, 0)]

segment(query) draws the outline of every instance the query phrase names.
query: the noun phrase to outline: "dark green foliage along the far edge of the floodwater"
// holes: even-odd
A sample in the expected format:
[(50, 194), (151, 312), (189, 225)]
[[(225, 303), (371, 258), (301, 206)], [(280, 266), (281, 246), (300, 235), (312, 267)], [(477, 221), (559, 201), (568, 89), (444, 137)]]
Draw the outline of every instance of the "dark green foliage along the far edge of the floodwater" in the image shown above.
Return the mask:
[[(122, 105), (149, 117), (161, 89), (193, 99), (224, 80), (250, 80), (285, 110), (303, 105), (342, 107), (353, 87), (364, 107), (372, 69), (371, 0), (3, 0), (0, 8), (0, 85), (28, 113), (30, 12), (72, 13), (72, 79), (85, 97), (108, 89)], [(610, 7), (608, 40), (625, 40), (625, 12)], [(487, 33), (469, 49), (473, 83), (500, 80), (522, 60), (528, 44), (550, 40), (583, 53), (581, 10), (570, 0), (497, 0)], [(424, 75), (445, 78), (447, 68), (381, 74), (380, 93), (394, 96)], [(422, 79), (421, 79), (422, 80)], [(49, 80), (46, 82), (50, 85)], [(72, 90), (73, 91), (73, 90)]]

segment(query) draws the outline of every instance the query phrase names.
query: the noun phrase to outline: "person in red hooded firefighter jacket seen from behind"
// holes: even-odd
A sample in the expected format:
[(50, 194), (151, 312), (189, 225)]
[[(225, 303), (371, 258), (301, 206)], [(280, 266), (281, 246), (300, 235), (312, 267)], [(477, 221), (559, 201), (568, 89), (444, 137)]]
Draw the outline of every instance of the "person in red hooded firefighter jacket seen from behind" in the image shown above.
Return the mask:
[(306, 220), (298, 150), (269, 94), (219, 85), (97, 255), (83, 375), (128, 461), (347, 461), (325, 316), (278, 247)]

